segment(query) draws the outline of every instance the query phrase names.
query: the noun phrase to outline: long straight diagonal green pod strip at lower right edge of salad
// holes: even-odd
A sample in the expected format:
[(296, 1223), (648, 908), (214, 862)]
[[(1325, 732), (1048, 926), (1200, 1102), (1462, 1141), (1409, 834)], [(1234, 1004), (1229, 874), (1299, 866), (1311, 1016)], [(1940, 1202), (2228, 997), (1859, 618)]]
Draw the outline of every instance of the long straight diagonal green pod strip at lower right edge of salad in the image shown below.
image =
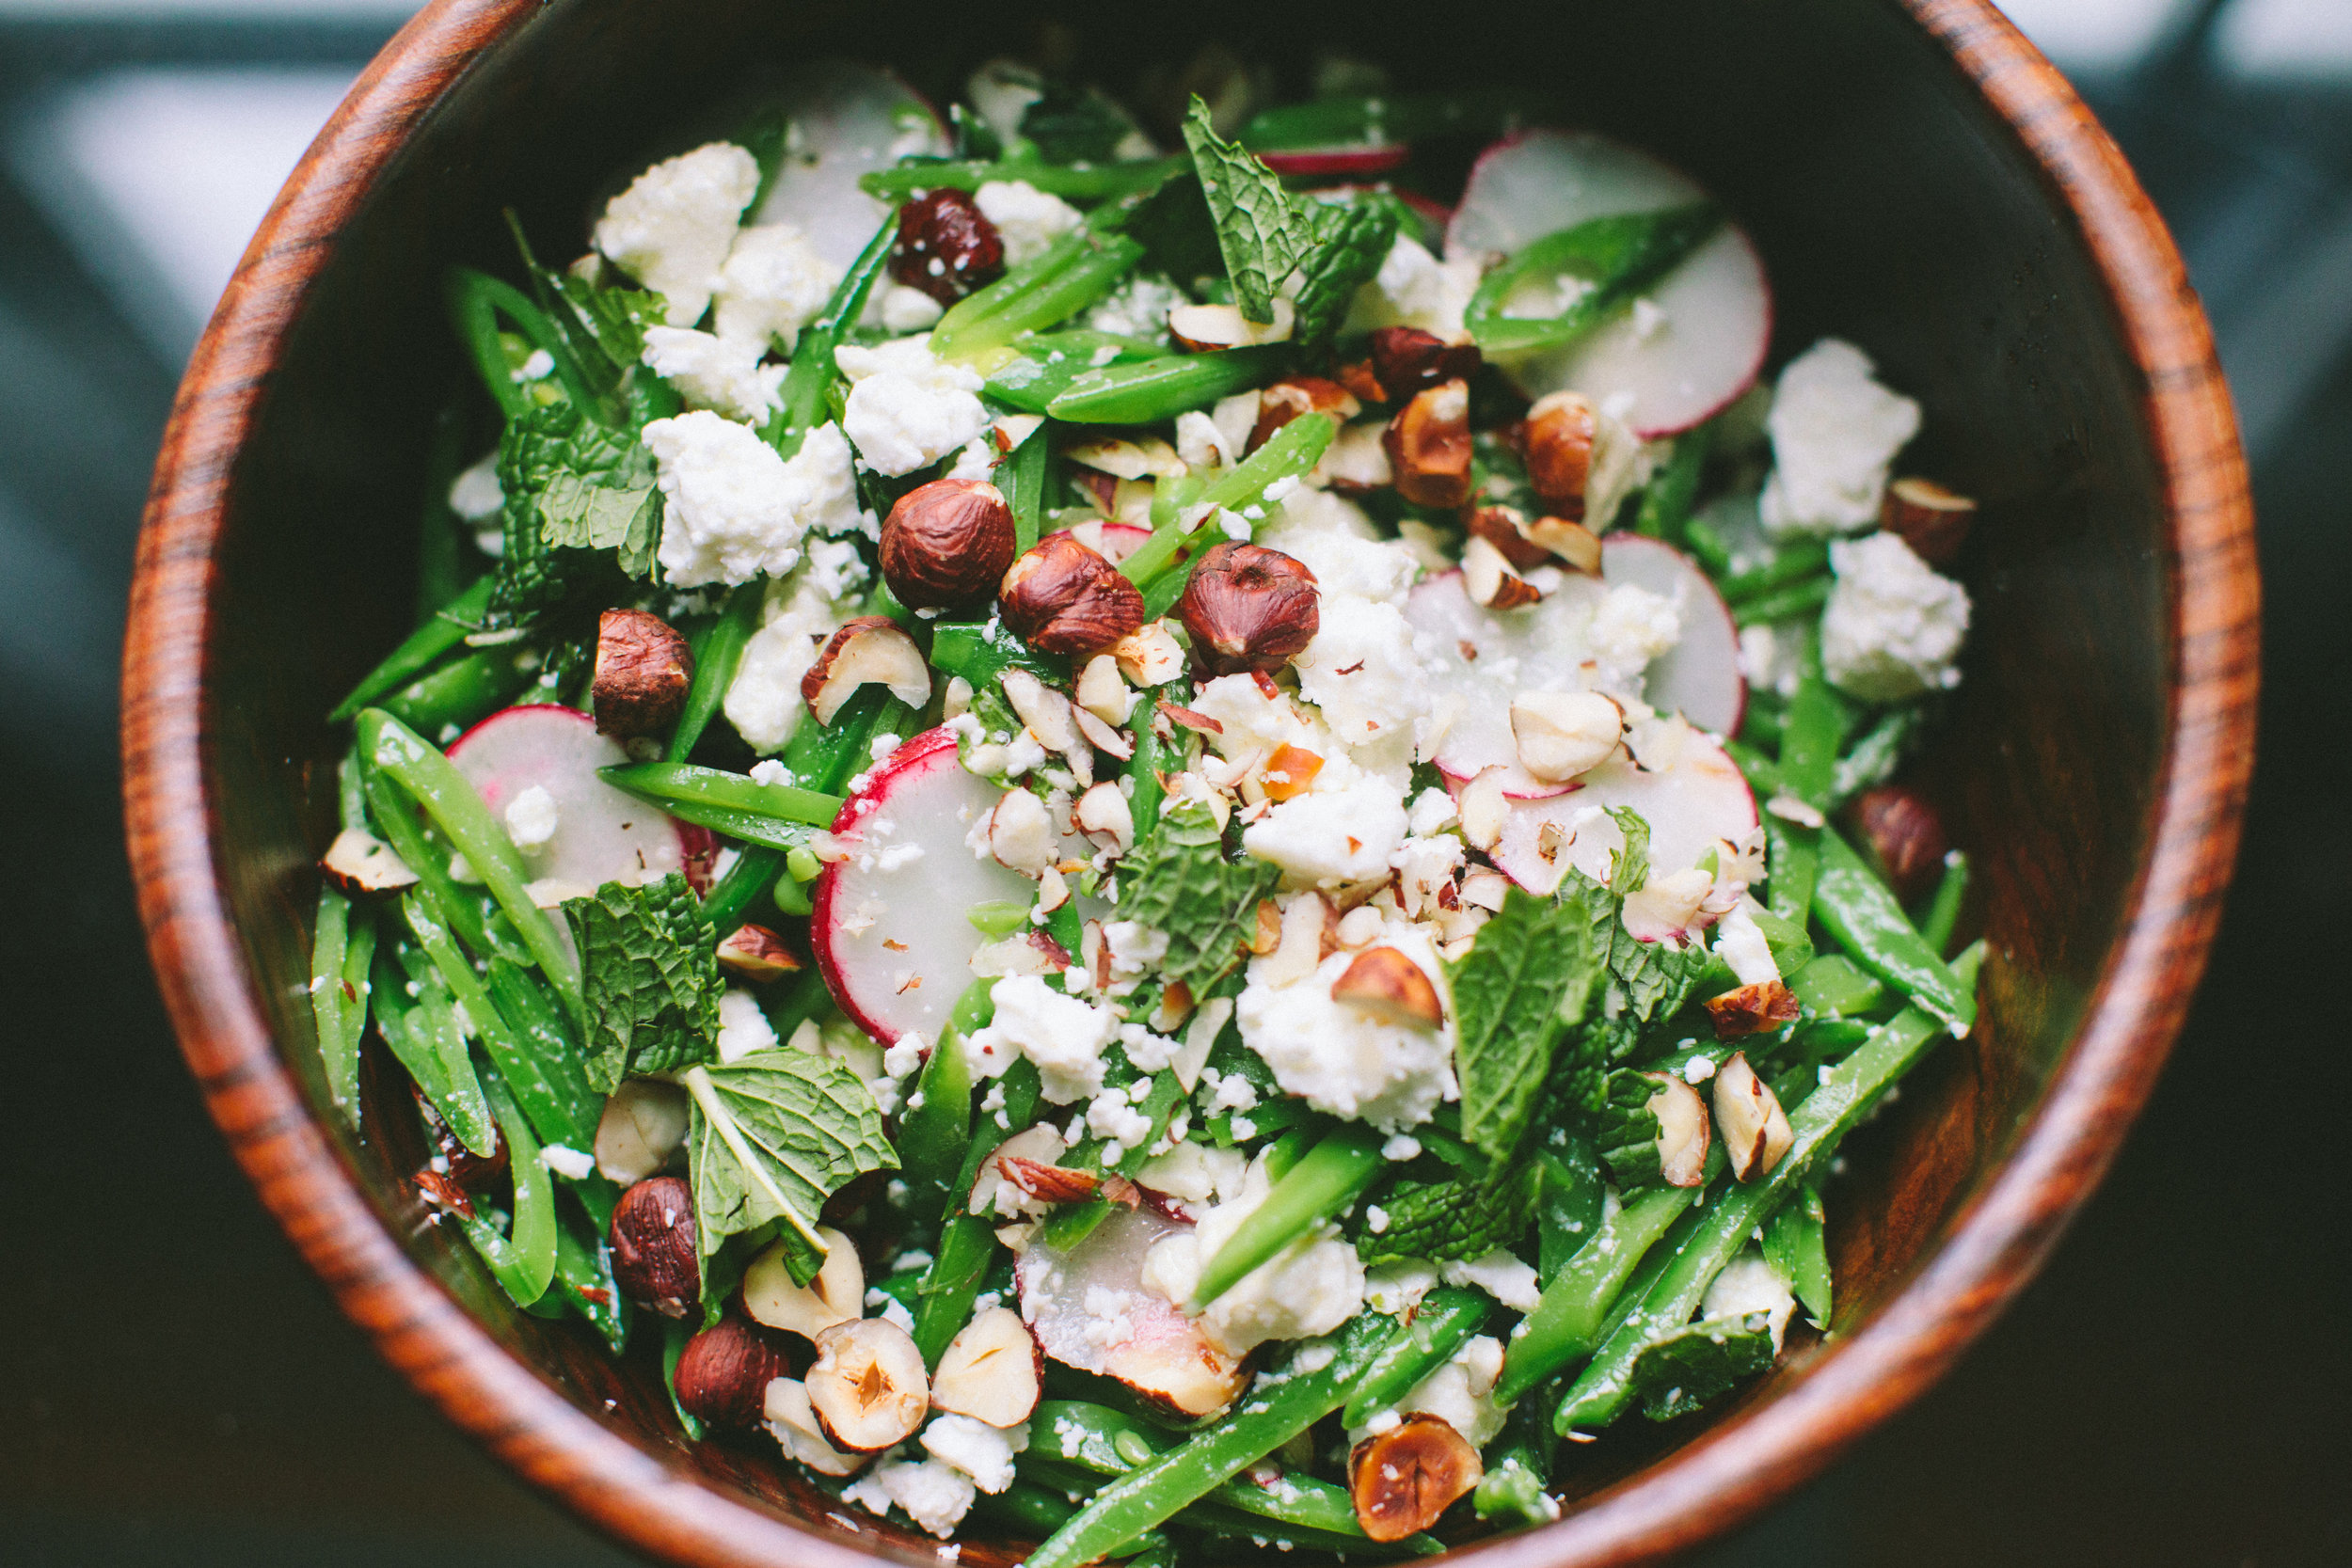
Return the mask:
[[(1955, 969), (1964, 983), (1973, 983), (1980, 961), (1983, 947), (1971, 947)], [(1788, 1114), (1795, 1133), (1788, 1154), (1766, 1175), (1750, 1185), (1733, 1185), (1698, 1215), (1698, 1225), (1665, 1258), (1665, 1267), (1642, 1302), (1618, 1324), (1559, 1399), (1559, 1413), (1552, 1418), (1555, 1432), (1606, 1427), (1625, 1410), (1635, 1394), (1632, 1368), (1642, 1349), (1661, 1333), (1691, 1319), (1708, 1284), (1748, 1246), (1764, 1218), (1788, 1201), (1816, 1164), (1828, 1159), (1839, 1138), (1926, 1056), (1940, 1034), (1940, 1018), (1910, 1006), (1853, 1056), (1820, 1074), (1820, 1086)], [(1503, 1375), (1510, 1375), (1508, 1361)]]

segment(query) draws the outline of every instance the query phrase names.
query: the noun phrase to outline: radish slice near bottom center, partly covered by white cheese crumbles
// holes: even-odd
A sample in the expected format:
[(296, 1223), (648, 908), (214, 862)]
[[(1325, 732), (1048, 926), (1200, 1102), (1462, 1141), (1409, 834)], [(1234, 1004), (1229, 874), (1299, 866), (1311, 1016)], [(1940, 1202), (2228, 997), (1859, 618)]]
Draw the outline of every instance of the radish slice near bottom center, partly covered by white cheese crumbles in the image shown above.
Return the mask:
[(1190, 1225), (1143, 1204), (1112, 1211), (1068, 1253), (1030, 1246), (1014, 1279), (1037, 1347), (1183, 1415), (1230, 1403), (1247, 1380), (1242, 1359), (1211, 1345), (1174, 1302), (1143, 1284), (1143, 1258), (1185, 1229)]

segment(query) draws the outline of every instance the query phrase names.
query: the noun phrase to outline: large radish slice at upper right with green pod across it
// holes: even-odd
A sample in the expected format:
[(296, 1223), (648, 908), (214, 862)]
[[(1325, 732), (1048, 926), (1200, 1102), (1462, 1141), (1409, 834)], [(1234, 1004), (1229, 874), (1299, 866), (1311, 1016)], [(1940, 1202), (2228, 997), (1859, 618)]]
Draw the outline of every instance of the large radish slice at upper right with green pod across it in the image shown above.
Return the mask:
[[(1470, 169), (1446, 226), (1446, 254), (1510, 254), (1590, 219), (1705, 200), (1689, 176), (1592, 132), (1524, 132)], [(1621, 315), (1585, 339), (1498, 364), (1529, 397), (1562, 388), (1611, 407), (1656, 440), (1712, 418), (1764, 369), (1771, 284), (1738, 226), (1724, 226), (1661, 280), (1651, 310)]]

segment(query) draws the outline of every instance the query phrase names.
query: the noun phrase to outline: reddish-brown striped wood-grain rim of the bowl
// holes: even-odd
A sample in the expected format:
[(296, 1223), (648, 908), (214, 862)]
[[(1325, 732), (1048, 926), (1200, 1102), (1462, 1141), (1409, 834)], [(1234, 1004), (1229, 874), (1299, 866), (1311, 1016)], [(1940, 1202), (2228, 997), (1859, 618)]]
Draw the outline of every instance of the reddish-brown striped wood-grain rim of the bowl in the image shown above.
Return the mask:
[[(2025, 1286), (2105, 1173), (2204, 971), (2253, 773), (2253, 503), (2211, 329), (2114, 141), (1992, 0), (1893, 0), (1973, 80), (2100, 268), (2145, 376), (2171, 531), (2173, 682), (2150, 849), (2107, 966), (2018, 1147), (1943, 1246), (1780, 1396), (1559, 1523), (1472, 1544), (1484, 1568), (1651, 1561), (1752, 1516), (1933, 1382)], [(644, 1453), (510, 1356), (376, 1218), (278, 1058), (212, 851), (202, 693), (233, 458), (343, 219), (409, 129), (539, 0), (435, 0), (320, 132), (238, 263), (172, 407), (122, 656), (129, 860), (148, 952), (207, 1110), (287, 1237), (376, 1349), (534, 1486), (680, 1563), (858, 1568), (818, 1535)], [(875, 1540), (875, 1552), (898, 1556)], [(915, 1561), (908, 1556), (906, 1561)]]

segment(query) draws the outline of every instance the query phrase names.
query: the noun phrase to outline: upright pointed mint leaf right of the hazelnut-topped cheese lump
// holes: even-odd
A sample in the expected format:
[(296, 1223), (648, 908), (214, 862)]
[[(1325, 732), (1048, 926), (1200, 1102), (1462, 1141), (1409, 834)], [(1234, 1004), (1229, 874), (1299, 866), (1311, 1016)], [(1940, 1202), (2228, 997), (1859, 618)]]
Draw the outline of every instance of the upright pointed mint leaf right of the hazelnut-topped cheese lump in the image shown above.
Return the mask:
[(1463, 1140), (1489, 1159), (1508, 1161), (1519, 1150), (1536, 1095), (1552, 1074), (1552, 1053), (1583, 1016), (1592, 983), (1606, 973), (1606, 950), (1595, 947), (1588, 907), (1595, 898), (1609, 903), (1599, 889), (1555, 903), (1515, 886), (1454, 964)]

